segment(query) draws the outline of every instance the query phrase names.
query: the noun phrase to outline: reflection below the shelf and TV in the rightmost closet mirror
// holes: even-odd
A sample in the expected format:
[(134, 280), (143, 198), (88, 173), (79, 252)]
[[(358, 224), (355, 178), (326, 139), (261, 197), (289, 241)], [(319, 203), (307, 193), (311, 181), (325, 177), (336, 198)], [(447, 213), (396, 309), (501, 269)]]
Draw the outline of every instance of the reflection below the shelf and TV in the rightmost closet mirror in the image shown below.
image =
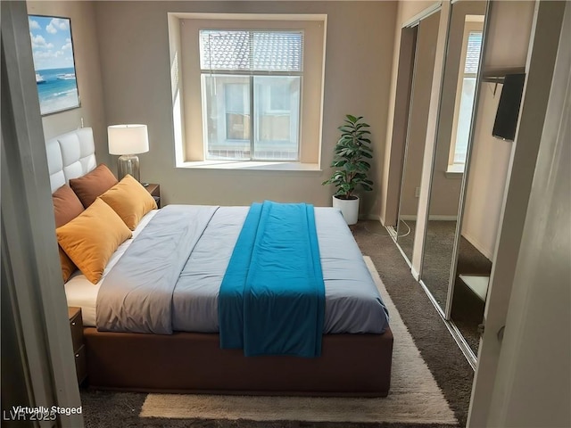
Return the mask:
[(477, 326), (484, 318), (492, 259), (498, 237), (501, 205), (508, 180), (513, 144), (492, 136), (504, 87), (484, 81), (479, 90), (476, 126), (467, 177), (462, 234), (454, 279), (451, 320), (477, 354)]

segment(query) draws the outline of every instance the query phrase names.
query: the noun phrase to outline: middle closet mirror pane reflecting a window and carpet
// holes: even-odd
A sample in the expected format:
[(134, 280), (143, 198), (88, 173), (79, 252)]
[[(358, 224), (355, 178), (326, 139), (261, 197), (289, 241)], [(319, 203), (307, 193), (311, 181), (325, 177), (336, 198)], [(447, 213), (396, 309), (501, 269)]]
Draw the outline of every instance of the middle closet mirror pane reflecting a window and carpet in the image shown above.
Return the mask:
[(454, 266), (459, 199), (475, 100), (486, 3), (451, 6), (421, 279), (443, 313)]

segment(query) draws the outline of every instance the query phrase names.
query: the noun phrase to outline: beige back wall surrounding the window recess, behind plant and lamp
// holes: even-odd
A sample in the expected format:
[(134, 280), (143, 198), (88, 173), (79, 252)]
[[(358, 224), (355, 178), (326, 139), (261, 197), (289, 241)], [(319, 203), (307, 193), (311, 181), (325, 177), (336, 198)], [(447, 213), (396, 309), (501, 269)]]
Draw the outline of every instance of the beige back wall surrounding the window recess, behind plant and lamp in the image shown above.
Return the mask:
[[(323, 171), (176, 169), (174, 158), (167, 12), (327, 13)], [(321, 182), (346, 113), (371, 125), (376, 159), (361, 214), (378, 212), (381, 157), (396, 21), (394, 2), (97, 2), (97, 38), (109, 124), (145, 123), (150, 152), (140, 155), (141, 178), (161, 184), (166, 203), (244, 205), (272, 199), (330, 205)]]

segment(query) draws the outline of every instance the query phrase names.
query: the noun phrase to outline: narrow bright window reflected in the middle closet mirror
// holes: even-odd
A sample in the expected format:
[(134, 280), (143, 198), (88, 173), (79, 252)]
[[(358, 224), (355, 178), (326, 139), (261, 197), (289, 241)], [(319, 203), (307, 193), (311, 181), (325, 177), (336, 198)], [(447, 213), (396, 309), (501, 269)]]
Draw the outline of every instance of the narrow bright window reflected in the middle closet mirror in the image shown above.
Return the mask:
[[(481, 24), (480, 24), (481, 26)], [(476, 27), (476, 29), (475, 29)], [(472, 123), (472, 111), (476, 95), (476, 78), (482, 47), (482, 30), (475, 22), (467, 22), (464, 47), (460, 61), (459, 83), (454, 111), (449, 171), (462, 172), (468, 152), (468, 139)]]

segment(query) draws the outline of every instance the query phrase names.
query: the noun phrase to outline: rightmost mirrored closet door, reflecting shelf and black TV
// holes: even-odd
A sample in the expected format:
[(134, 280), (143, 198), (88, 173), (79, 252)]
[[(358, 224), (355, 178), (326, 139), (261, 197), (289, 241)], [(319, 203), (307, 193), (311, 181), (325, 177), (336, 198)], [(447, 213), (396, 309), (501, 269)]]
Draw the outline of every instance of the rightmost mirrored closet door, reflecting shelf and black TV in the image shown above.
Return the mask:
[[(534, 4), (491, 2), (470, 135), (468, 169), (460, 200), (459, 227), (446, 315), (474, 359), (478, 352), (488, 285), (492, 276), (501, 209), (514, 148), (512, 142), (525, 82), (526, 50)], [(509, 37), (509, 53), (494, 40)], [(503, 100), (503, 102), (501, 101)], [(501, 114), (503, 106), (511, 119)], [(498, 128), (497, 128), (498, 127)], [(509, 131), (509, 129), (511, 129)]]

